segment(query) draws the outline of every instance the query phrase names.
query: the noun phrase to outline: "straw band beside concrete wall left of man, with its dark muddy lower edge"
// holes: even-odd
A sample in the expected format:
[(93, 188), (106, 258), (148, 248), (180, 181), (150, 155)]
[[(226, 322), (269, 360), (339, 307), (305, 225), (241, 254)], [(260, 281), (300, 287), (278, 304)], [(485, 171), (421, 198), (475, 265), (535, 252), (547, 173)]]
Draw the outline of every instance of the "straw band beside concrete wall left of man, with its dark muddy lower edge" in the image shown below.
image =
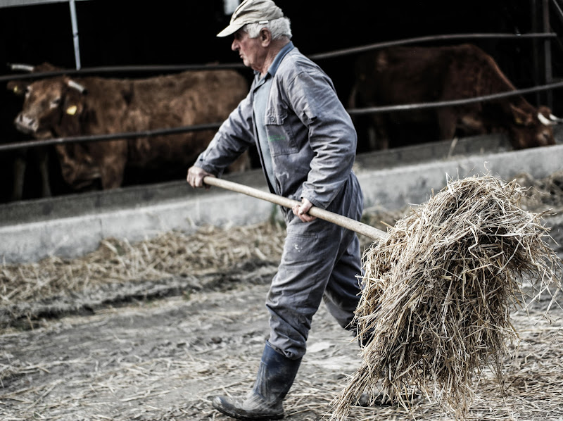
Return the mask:
[(284, 229), (276, 223), (202, 227), (193, 234), (167, 232), (136, 244), (105, 239), (82, 258), (0, 265), (0, 332), (33, 329), (44, 320), (130, 301), (189, 296), (244, 280), (255, 268), (264, 269), (261, 276), (267, 282), (283, 242)]

